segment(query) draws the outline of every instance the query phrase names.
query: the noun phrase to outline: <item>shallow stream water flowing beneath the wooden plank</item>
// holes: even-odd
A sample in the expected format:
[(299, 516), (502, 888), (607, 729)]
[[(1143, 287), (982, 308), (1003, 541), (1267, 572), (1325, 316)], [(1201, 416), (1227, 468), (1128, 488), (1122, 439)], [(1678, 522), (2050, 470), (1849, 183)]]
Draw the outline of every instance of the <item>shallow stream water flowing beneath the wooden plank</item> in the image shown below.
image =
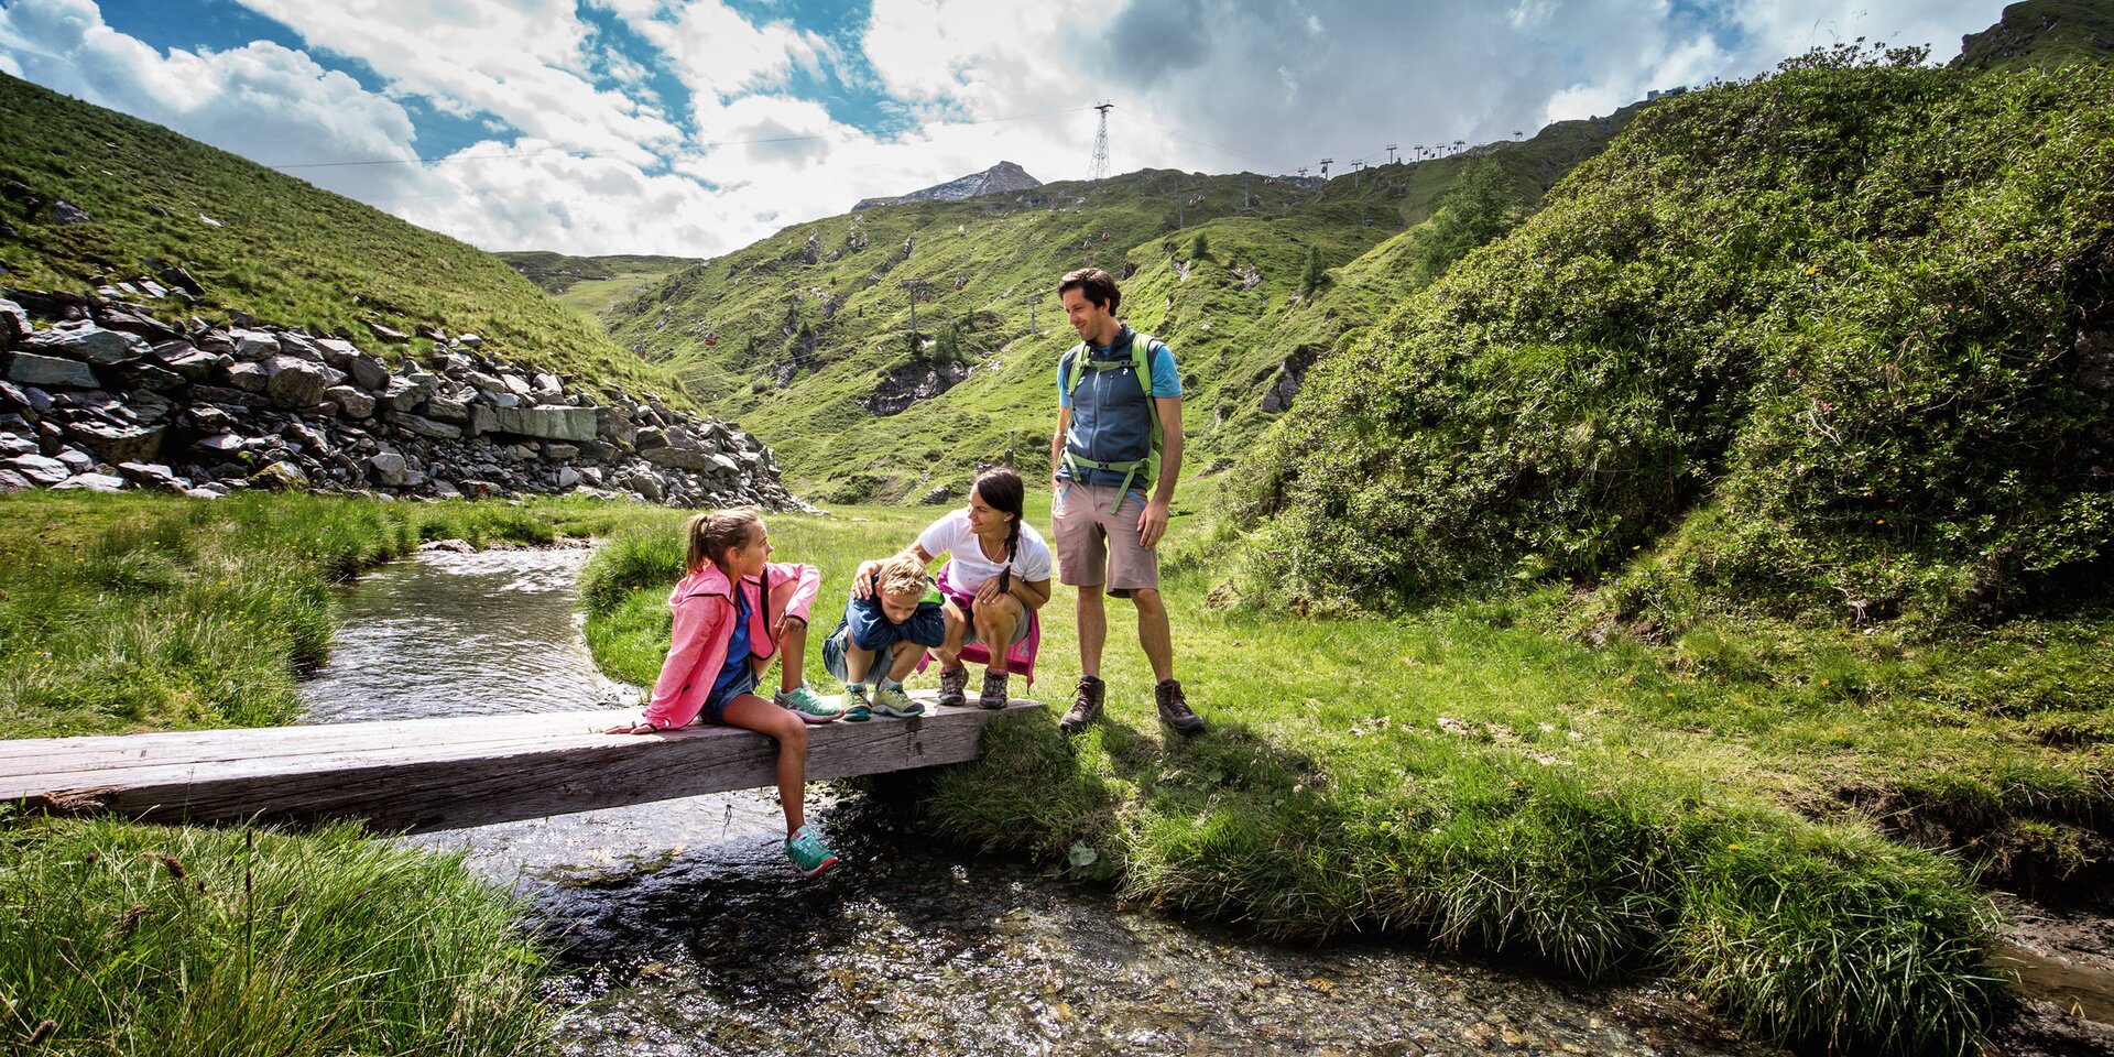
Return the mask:
[[(342, 596), (317, 721), (583, 710), (630, 693), (579, 638), (583, 550), (427, 552)], [(894, 797), (810, 814), (689, 797), (414, 837), (531, 901), (562, 947), (571, 1055), (1780, 1055), (1653, 985), (1581, 987), (1412, 945), (1258, 943), (922, 839)], [(2021, 1051), (2006, 1051), (2021, 1053)]]

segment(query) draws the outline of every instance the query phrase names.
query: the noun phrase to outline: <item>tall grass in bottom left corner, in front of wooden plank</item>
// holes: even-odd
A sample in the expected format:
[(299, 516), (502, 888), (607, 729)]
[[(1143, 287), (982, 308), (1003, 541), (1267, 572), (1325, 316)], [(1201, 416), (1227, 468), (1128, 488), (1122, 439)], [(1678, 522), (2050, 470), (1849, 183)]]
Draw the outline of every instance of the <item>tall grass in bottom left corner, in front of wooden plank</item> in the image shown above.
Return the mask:
[(461, 856), (355, 827), (0, 818), (11, 1053), (554, 1053), (543, 975)]

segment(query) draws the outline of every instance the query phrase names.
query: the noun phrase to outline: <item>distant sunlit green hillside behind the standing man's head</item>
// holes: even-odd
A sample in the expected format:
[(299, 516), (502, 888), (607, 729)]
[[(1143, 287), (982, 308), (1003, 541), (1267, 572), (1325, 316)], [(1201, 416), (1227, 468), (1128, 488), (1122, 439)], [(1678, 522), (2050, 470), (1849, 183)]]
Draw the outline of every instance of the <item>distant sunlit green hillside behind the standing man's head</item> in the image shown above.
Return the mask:
[[(1008, 446), (1036, 461), (1055, 425), (1051, 372), (1072, 345), (1057, 277), (1123, 277), (1125, 313), (1182, 359), (1192, 452), (1239, 459), (1266, 395), (1418, 285), (1423, 224), (1471, 167), (1526, 211), (1632, 110), (1528, 142), (1319, 180), (1137, 171), (962, 203), (877, 205), (791, 226), (619, 302), (626, 347), (676, 370), (757, 431), (795, 490), (903, 499), (962, 482)], [(1205, 258), (1190, 260), (1203, 235)], [(1330, 281), (1300, 296), (1309, 249)], [(913, 288), (917, 340), (911, 340)], [(1030, 330), (1034, 326), (1034, 332)], [(966, 381), (875, 414), (928, 370)], [(930, 467), (930, 476), (926, 469)]]

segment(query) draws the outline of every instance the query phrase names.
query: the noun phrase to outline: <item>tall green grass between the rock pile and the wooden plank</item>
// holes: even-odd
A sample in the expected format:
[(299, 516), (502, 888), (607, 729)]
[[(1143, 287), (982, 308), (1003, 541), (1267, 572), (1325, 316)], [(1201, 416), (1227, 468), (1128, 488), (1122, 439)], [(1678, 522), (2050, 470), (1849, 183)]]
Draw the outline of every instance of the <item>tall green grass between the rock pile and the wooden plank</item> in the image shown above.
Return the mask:
[(641, 507), (239, 495), (0, 497), (0, 736), (288, 723), (330, 583), (427, 539), (548, 543)]

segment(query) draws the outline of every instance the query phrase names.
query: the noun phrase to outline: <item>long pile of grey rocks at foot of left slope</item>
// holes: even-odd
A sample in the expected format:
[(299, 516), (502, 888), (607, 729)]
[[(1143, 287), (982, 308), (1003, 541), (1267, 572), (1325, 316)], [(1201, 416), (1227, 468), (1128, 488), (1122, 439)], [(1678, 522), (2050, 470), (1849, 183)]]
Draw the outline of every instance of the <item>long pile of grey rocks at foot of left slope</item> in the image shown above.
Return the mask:
[(0, 294), (11, 298), (0, 300), (0, 490), (586, 490), (683, 507), (801, 505), (753, 435), (651, 393), (590, 393), (512, 370), (480, 355), (476, 334), (419, 328), (435, 342), (427, 366), (404, 357), (391, 370), (345, 332), (239, 313), (220, 328), (167, 323), (114, 288)]

